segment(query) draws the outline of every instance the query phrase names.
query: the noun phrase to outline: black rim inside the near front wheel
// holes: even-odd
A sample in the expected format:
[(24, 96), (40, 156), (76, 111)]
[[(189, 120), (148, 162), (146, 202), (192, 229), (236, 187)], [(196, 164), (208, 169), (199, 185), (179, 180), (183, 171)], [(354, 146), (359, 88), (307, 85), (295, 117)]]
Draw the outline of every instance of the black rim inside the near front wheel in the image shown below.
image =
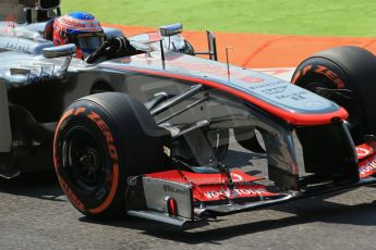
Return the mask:
[(68, 133), (63, 142), (64, 167), (74, 185), (85, 192), (99, 188), (105, 176), (105, 152), (95, 136), (84, 127)]

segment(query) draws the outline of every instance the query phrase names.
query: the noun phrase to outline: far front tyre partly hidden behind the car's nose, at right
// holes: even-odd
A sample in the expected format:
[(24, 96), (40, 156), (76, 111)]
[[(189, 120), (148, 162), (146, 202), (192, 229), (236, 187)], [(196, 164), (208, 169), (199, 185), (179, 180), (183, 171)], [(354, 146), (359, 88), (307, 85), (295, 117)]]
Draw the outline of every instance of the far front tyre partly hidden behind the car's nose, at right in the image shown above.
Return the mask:
[(296, 67), (291, 82), (343, 107), (355, 143), (376, 135), (376, 57), (369, 51), (345, 46), (315, 53)]

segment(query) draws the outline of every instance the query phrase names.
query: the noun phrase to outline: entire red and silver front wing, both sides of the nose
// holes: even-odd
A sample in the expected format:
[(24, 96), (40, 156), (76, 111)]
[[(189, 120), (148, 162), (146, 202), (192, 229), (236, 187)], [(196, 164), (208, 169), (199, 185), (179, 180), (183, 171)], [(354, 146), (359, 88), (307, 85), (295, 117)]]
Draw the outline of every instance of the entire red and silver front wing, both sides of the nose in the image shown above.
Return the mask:
[(335, 193), (376, 183), (374, 145), (356, 147), (360, 182), (327, 184), (295, 192), (278, 192), (263, 185), (263, 177), (241, 170), (226, 173), (192, 173), (172, 170), (142, 176), (145, 209), (131, 209), (129, 215), (167, 223), (184, 229), (205, 225), (207, 218), (276, 205), (306, 197)]

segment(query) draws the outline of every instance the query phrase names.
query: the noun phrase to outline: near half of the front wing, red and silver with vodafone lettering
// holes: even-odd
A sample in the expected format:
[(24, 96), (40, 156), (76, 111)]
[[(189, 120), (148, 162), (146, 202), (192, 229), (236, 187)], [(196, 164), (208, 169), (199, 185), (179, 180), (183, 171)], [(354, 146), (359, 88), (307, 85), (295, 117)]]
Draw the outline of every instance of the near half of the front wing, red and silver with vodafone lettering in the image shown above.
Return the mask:
[[(181, 227), (192, 227), (208, 217), (239, 213), (291, 198), (255, 184), (260, 178), (232, 171), (229, 185), (225, 174), (198, 174), (167, 171), (143, 176), (145, 210), (130, 210), (129, 215)], [(190, 226), (189, 226), (190, 225)]]

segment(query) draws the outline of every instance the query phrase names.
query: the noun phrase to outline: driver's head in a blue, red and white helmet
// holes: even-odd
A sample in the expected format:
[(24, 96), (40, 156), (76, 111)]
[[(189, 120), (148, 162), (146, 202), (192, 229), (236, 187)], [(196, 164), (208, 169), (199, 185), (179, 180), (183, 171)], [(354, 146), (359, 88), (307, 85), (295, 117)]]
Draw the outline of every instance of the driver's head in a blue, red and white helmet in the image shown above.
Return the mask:
[(105, 41), (105, 33), (99, 22), (90, 14), (74, 12), (57, 18), (53, 23), (56, 46), (74, 43), (77, 58), (85, 58)]

